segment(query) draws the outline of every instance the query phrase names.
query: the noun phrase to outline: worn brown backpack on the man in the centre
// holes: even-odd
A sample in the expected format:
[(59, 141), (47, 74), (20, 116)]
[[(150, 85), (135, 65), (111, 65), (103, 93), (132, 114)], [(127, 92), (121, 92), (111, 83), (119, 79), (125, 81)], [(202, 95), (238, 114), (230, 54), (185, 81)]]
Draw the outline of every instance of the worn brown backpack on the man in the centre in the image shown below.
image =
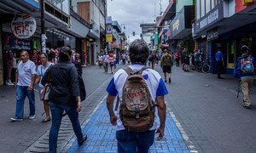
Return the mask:
[[(132, 71), (130, 67), (124, 69), (128, 77), (123, 88), (119, 116), (127, 131), (145, 132), (154, 124), (154, 100), (142, 76), (146, 69), (149, 67), (145, 66), (137, 72)], [(119, 99), (117, 106), (118, 103)]]

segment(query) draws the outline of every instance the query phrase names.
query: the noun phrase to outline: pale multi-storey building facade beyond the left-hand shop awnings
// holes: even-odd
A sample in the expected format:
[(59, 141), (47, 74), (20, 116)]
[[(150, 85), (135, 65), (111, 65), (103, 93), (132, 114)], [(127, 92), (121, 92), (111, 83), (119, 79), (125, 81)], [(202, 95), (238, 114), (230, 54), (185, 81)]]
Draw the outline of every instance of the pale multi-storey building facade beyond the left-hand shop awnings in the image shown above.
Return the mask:
[(87, 63), (96, 64), (96, 56), (106, 48), (105, 20), (107, 16), (106, 0), (73, 0), (73, 10), (91, 25), (88, 37), (84, 41)]

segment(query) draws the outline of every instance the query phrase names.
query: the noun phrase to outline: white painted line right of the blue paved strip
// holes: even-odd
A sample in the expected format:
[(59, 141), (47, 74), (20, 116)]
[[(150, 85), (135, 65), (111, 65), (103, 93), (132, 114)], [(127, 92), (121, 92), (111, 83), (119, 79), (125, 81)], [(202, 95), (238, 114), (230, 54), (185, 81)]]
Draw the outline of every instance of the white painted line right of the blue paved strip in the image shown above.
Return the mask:
[(188, 148), (190, 152), (195, 152), (197, 153), (198, 151), (195, 150), (195, 145), (192, 143), (192, 141), (189, 140), (189, 136), (187, 135), (187, 133), (184, 131), (182, 125), (180, 122), (177, 121), (176, 116), (174, 115), (174, 113), (171, 111), (171, 109), (168, 109), (170, 116), (172, 116), (172, 120), (173, 122), (175, 122), (177, 128), (179, 129), (179, 132), (182, 134), (183, 139), (186, 141), (186, 143), (188, 144)]

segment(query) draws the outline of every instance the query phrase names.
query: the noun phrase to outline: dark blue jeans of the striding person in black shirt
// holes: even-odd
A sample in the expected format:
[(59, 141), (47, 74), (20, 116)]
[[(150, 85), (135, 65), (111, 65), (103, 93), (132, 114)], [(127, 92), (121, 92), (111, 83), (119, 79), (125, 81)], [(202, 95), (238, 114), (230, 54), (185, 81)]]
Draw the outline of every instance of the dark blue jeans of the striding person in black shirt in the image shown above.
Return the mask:
[(55, 105), (54, 103), (49, 103), (49, 108), (51, 111), (52, 123), (49, 131), (49, 152), (55, 153), (57, 149), (57, 139), (58, 133), (61, 126), (61, 119), (63, 111), (67, 112), (67, 116), (72, 122), (73, 131), (77, 136), (78, 141), (83, 140), (83, 133), (79, 122), (79, 113), (76, 108), (72, 108), (68, 105)]

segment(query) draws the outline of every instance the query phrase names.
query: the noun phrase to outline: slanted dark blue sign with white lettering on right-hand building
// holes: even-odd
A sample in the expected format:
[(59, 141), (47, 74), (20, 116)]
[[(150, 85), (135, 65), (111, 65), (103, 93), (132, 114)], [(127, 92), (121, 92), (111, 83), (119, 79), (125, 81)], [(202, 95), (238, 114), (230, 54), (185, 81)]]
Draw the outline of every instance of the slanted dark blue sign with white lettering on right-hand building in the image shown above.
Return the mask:
[(224, 19), (224, 3), (220, 3), (193, 25), (194, 35)]

